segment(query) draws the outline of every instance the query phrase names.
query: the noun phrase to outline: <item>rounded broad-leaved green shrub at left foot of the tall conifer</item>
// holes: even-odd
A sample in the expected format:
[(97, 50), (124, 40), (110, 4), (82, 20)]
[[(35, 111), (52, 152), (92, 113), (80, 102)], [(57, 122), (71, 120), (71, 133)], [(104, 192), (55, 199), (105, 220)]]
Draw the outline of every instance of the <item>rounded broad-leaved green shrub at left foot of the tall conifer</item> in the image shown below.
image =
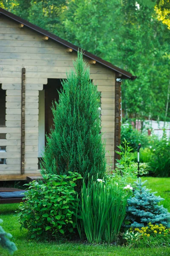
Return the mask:
[(19, 206), (19, 222), (29, 230), (31, 238), (52, 239), (72, 236), (76, 226), (78, 173), (43, 175), (44, 183), (32, 181)]

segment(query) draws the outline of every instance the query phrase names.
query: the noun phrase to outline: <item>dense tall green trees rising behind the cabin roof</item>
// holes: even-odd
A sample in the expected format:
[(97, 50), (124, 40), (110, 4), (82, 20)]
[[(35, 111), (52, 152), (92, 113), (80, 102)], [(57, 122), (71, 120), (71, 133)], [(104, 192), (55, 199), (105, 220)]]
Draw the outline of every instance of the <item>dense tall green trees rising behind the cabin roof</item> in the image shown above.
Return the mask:
[(138, 76), (122, 84), (126, 119), (170, 120), (169, 0), (2, 0), (0, 7)]

